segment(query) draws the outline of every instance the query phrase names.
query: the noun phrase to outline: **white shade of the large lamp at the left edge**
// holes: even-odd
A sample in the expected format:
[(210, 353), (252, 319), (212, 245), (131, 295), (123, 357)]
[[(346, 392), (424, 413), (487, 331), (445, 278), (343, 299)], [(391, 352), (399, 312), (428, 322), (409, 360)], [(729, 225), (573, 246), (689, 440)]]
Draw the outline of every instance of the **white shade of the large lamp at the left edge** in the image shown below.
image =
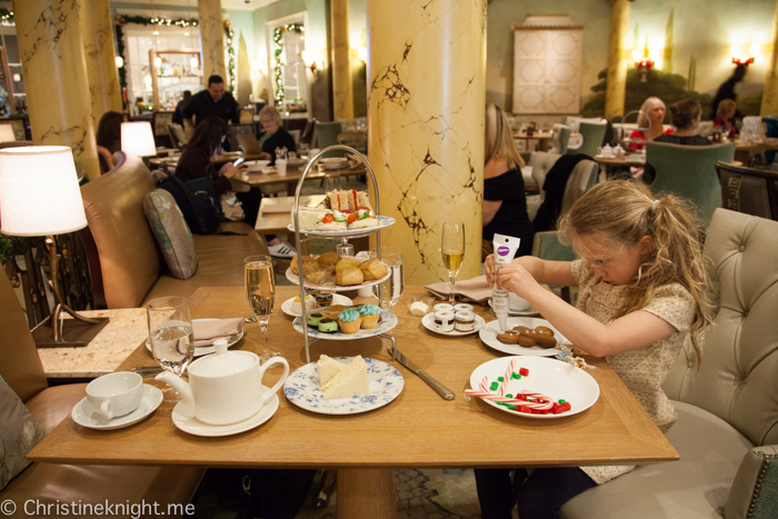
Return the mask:
[(70, 148), (0, 150), (0, 227), (10, 236), (64, 234), (87, 227)]

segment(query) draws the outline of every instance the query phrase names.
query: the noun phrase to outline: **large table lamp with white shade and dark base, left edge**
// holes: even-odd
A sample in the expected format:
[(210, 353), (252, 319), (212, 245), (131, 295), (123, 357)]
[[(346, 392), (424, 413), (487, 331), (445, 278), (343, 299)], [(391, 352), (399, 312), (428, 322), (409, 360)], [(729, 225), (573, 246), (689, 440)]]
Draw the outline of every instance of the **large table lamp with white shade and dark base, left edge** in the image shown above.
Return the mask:
[[(108, 323), (86, 318), (66, 305), (57, 279), (60, 254), (54, 234), (87, 227), (73, 152), (64, 146), (0, 150), (0, 230), (9, 236), (46, 237), (54, 311), (32, 329), (39, 348), (87, 346)], [(31, 267), (30, 267), (31, 268)], [(62, 319), (62, 312), (73, 319)]]

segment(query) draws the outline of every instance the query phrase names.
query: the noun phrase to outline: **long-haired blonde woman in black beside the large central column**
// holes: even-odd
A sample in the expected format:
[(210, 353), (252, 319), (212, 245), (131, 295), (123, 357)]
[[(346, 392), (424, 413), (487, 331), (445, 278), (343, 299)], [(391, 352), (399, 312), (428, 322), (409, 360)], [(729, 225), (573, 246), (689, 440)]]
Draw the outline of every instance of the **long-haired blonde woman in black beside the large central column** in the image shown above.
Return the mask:
[[(532, 252), (535, 230), (527, 214), (527, 197), (513, 137), (502, 109), (487, 104), (483, 153), (483, 248), (491, 250), (495, 233), (521, 239), (518, 256)], [(491, 252), (488, 252), (491, 253)]]

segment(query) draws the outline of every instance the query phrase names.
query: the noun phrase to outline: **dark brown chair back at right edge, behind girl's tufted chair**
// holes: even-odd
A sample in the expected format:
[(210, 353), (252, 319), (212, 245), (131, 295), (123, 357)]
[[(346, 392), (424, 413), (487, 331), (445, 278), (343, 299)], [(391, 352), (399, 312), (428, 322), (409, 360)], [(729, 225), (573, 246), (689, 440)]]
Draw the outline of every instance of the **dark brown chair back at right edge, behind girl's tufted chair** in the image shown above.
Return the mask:
[(778, 172), (716, 162), (721, 206), (732, 211), (778, 220)]

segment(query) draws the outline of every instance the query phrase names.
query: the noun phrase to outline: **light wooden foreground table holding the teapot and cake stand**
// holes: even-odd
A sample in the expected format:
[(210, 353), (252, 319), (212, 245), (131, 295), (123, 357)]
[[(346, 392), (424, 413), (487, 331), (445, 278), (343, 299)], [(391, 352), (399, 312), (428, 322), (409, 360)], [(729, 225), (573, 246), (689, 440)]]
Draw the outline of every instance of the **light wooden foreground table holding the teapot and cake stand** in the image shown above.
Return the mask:
[[(303, 366), (302, 336), (291, 327), (281, 303), (299, 293), (278, 287), (270, 318), (268, 347), (281, 351), (292, 370)], [(408, 311), (410, 297), (422, 287), (406, 287), (395, 307), (400, 325), (391, 331), (398, 349), (456, 393), (443, 400), (386, 351), (388, 341), (319, 341), (315, 358), (361, 355), (389, 362), (405, 379), (400, 396), (380, 409), (352, 416), (305, 411), (280, 396), (276, 415), (262, 426), (225, 438), (200, 438), (179, 431), (171, 421), (174, 402), (163, 401), (144, 421), (116, 431), (94, 431), (67, 417), (28, 455), (32, 461), (84, 465), (181, 465), (251, 468), (337, 468), (341, 518), (396, 517), (391, 469), (462, 467), (563, 467), (632, 465), (677, 460), (678, 453), (605, 360), (586, 357), (600, 386), (598, 401), (569, 418), (535, 420), (499, 411), (477, 400), (467, 402), (472, 370), (501, 353), (478, 335), (449, 338), (427, 331)], [(193, 318), (248, 317), (239, 287), (201, 288), (190, 299)], [(493, 320), (488, 308), (476, 312)], [(236, 348), (261, 350), (257, 325), (247, 325)], [(153, 366), (140, 346), (120, 369)], [(269, 371), (266, 385), (280, 370)], [(272, 376), (270, 373), (273, 373)], [(153, 379), (147, 383), (162, 387)]]

